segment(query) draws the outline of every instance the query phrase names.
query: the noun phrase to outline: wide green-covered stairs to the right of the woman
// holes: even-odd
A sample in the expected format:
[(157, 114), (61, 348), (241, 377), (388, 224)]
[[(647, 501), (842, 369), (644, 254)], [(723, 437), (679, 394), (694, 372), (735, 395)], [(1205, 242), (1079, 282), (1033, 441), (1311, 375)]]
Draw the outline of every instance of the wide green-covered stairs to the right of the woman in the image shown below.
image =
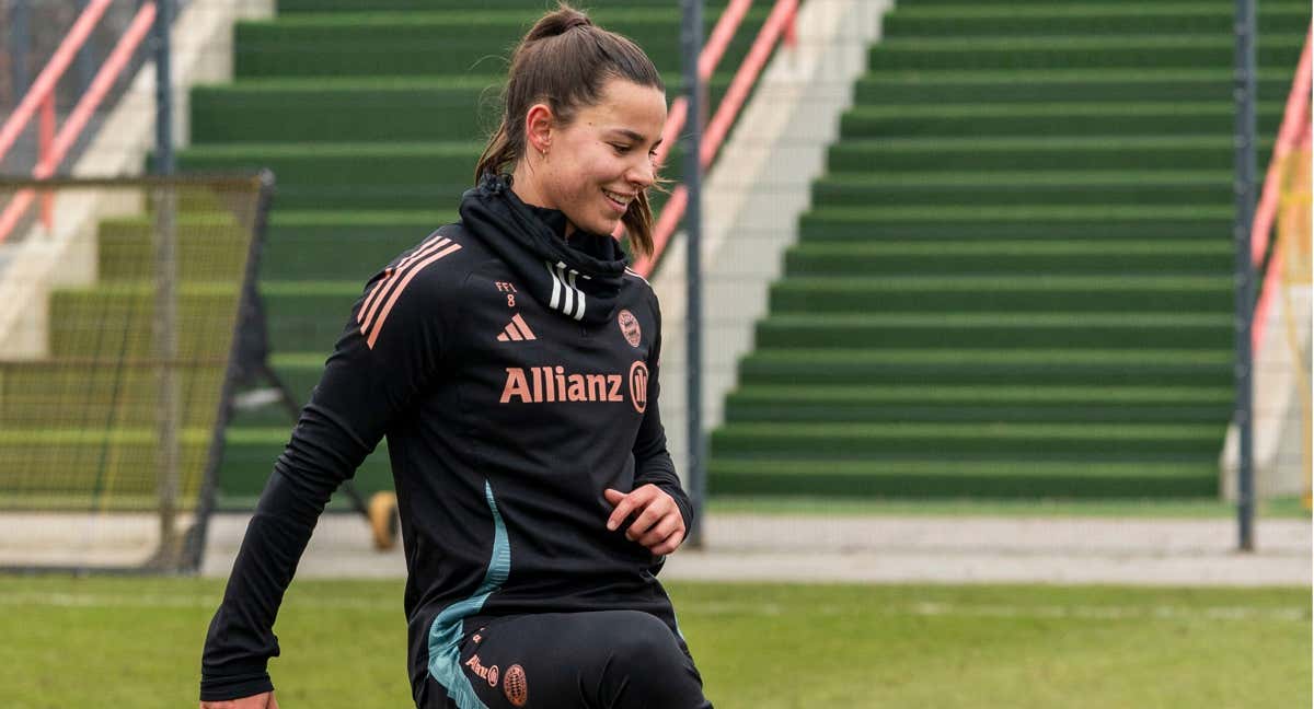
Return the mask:
[[(1218, 495), (1233, 407), (1234, 4), (886, 16), (712, 495)], [(1260, 164), (1310, 11), (1259, 5)]]

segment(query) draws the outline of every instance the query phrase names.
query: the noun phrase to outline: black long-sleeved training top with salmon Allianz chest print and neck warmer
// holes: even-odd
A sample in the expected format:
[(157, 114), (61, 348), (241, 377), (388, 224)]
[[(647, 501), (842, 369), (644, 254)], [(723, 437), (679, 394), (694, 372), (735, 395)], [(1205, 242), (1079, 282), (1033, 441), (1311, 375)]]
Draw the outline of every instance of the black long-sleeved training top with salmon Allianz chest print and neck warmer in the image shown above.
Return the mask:
[[(388, 436), (406, 553), (411, 685), (460, 704), (476, 616), (646, 611), (674, 629), (661, 558), (606, 529), (604, 488), (689, 498), (657, 411), (661, 315), (610, 235), (485, 177), (365, 286), (273, 466), (223, 604), (201, 698), (272, 688), (272, 632), (331, 492)], [(463, 685), (464, 683), (464, 685)]]

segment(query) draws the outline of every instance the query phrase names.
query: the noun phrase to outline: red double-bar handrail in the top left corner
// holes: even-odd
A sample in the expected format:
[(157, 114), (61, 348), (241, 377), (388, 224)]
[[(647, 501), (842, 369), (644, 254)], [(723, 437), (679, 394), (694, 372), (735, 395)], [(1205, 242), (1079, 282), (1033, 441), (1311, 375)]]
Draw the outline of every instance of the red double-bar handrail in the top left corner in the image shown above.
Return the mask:
[[(131, 24), (127, 26), (127, 32), (120, 38), (114, 50), (105, 59), (100, 71), (96, 72), (96, 77), (92, 79), (91, 85), (87, 92), (83, 93), (78, 105), (74, 106), (72, 113), (64, 121), (63, 127), (57, 134), (55, 119), (54, 119), (54, 89), (55, 84), (59, 81), (63, 72), (68, 68), (78, 50), (91, 35), (91, 30), (95, 29), (96, 22), (104, 14), (105, 8), (112, 0), (96, 0), (93, 4), (88, 5), (83, 14), (74, 24), (72, 30), (55, 50), (54, 56), (50, 58), (50, 63), (42, 70), (41, 76), (33, 83), (32, 89), (28, 96), (24, 97), (22, 102), (14, 114), (5, 122), (4, 127), (0, 129), (0, 158), (4, 158), (5, 151), (13, 146), (18, 134), (26, 126), (26, 122), (32, 119), (32, 113), (35, 110), (37, 105), (42, 106), (42, 123), (41, 123), (41, 151), (37, 161), (37, 167), (33, 169), (32, 176), (42, 180), (50, 177), (55, 173), (55, 168), (64, 159), (68, 151), (72, 148), (74, 143), (81, 135), (83, 129), (91, 121), (92, 114), (95, 114), (96, 108), (113, 88), (114, 81), (118, 75), (124, 72), (127, 63), (133, 59), (133, 53), (142, 43), (146, 35), (151, 30), (151, 25), (155, 22), (155, 3), (147, 1), (142, 4), (141, 9), (137, 11), (137, 16), (133, 17)], [(32, 206), (32, 201), (35, 194), (32, 189), (25, 189), (14, 196), (9, 206), (0, 214), (0, 243), (9, 236), (13, 228), (18, 225), (18, 221), (26, 213), (28, 207)], [(43, 200), (43, 214), (42, 221), (49, 227), (51, 223), (50, 204)]]

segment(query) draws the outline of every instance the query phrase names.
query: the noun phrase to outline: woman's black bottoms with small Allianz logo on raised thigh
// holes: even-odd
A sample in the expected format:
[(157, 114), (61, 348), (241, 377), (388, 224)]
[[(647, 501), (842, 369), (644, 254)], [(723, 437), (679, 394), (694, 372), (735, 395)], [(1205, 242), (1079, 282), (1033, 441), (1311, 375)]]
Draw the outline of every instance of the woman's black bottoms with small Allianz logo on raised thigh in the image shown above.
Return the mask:
[(482, 705), (461, 706), (428, 675), (417, 698), (419, 709), (712, 706), (685, 641), (649, 613), (537, 613), (466, 628), (461, 677)]

